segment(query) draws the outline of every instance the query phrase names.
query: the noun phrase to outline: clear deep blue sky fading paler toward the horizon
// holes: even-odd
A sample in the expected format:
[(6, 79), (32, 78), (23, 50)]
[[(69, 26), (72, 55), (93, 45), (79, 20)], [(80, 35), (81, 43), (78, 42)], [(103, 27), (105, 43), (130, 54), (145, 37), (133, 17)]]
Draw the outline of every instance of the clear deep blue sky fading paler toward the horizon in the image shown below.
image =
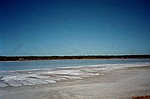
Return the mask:
[(0, 0), (0, 56), (150, 54), (149, 0)]

